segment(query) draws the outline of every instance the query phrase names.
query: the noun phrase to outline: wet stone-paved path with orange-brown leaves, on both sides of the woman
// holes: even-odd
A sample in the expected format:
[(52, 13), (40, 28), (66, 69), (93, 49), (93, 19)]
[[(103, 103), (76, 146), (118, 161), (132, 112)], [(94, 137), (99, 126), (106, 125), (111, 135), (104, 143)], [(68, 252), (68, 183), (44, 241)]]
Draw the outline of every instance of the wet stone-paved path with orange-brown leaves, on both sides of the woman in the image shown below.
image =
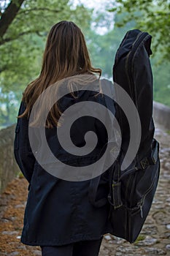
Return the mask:
[[(134, 244), (109, 234), (104, 236), (99, 256), (170, 255), (170, 134), (158, 127), (155, 138), (161, 143), (161, 174), (142, 232)], [(15, 178), (0, 197), (1, 256), (41, 255), (39, 246), (20, 243), (27, 186), (24, 178)]]

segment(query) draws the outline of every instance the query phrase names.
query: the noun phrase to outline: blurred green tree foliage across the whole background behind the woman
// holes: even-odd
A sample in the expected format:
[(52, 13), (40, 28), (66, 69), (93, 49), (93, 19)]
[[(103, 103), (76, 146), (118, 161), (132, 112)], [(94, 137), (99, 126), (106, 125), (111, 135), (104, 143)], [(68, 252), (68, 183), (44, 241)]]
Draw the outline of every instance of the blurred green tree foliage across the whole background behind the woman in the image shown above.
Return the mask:
[[(8, 0), (0, 2), (1, 13), (8, 4)], [(152, 51), (156, 53), (152, 58), (154, 99), (170, 106), (169, 5), (165, 0), (117, 0), (114, 10), (119, 13), (115, 15), (117, 26), (101, 35), (91, 29), (92, 12), (82, 5), (73, 8), (69, 0), (24, 0), (0, 38), (1, 127), (15, 123), (23, 90), (39, 75), (47, 33), (59, 20), (72, 20), (81, 27), (93, 66), (100, 67), (107, 78), (112, 78), (115, 53), (126, 31), (139, 28), (152, 34)], [(109, 28), (105, 15), (107, 13), (98, 15), (95, 22)], [(163, 56), (165, 61), (161, 61)]]

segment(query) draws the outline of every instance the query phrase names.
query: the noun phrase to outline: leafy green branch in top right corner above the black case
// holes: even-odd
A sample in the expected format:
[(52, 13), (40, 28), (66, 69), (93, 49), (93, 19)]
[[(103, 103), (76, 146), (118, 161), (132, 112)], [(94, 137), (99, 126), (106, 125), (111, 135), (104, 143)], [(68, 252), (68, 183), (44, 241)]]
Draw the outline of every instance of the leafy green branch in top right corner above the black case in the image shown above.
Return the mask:
[(117, 26), (129, 20), (136, 21), (136, 28), (152, 34), (154, 50), (162, 53), (162, 59), (170, 59), (170, 1), (169, 0), (117, 0), (112, 12), (123, 13)]

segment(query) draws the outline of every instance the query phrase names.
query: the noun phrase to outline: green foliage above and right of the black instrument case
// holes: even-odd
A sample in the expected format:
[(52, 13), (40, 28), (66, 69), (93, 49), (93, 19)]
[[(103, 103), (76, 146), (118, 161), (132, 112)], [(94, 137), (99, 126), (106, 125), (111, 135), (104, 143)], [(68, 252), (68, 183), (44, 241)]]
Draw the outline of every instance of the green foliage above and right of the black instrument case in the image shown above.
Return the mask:
[(170, 106), (170, 1), (117, 0), (111, 12), (115, 26), (125, 27), (135, 20), (131, 29), (147, 31), (152, 35), (152, 71), (154, 99)]

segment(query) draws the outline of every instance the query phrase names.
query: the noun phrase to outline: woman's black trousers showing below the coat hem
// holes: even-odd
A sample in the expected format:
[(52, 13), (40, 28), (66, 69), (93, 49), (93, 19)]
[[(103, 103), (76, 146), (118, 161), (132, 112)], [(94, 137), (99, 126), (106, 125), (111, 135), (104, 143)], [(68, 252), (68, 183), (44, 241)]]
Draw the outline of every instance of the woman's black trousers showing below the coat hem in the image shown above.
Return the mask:
[(102, 238), (63, 246), (41, 246), (42, 256), (98, 256)]

